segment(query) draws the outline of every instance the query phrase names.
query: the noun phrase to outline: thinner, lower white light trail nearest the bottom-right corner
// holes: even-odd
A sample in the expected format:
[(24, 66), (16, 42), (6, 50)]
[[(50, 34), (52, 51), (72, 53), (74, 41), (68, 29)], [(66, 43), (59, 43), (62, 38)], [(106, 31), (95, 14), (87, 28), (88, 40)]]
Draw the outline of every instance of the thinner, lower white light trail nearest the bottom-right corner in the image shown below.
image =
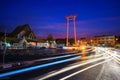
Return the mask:
[(68, 79), (68, 78), (70, 78), (70, 77), (73, 77), (73, 76), (75, 76), (75, 75), (83, 72), (83, 71), (86, 71), (86, 70), (88, 70), (88, 69), (90, 69), (90, 68), (93, 68), (93, 67), (98, 66), (98, 65), (100, 65), (100, 64), (103, 64), (103, 63), (105, 63), (105, 62), (108, 62), (108, 61), (110, 61), (110, 60), (111, 60), (111, 59), (106, 60), (106, 61), (99, 62), (99, 63), (94, 64), (94, 65), (91, 65), (91, 66), (86, 67), (86, 68), (84, 68), (84, 69), (82, 69), (82, 70), (80, 70), (80, 71), (77, 71), (77, 72), (72, 73), (72, 74), (70, 74), (70, 75), (68, 75), (68, 76), (66, 76), (66, 77), (63, 77), (63, 78), (61, 78), (60, 80), (66, 80), (66, 79)]

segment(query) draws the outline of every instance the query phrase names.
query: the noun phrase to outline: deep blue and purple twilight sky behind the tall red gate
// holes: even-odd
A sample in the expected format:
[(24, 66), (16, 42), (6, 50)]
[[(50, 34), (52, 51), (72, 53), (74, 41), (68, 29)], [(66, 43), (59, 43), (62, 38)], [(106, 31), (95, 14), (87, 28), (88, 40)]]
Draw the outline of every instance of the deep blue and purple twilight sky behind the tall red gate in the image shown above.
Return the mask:
[(0, 0), (0, 32), (29, 24), (37, 37), (65, 38), (70, 14), (77, 14), (77, 38), (120, 35), (120, 0)]

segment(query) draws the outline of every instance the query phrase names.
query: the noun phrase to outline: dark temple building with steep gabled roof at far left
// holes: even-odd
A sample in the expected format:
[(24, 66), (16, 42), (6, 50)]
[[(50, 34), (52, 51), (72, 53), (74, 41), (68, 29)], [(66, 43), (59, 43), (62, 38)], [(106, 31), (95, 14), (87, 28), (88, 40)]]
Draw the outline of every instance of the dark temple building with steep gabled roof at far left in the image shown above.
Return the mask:
[[(0, 41), (2, 41), (3, 44), (5, 42), (4, 35), (0, 37)], [(15, 30), (13, 30), (13, 32), (6, 35), (6, 44), (9, 44), (9, 47), (14, 47), (14, 45), (18, 45), (18, 47), (21, 47), (21, 45), (23, 45), (24, 48), (29, 45), (36, 46), (36, 43), (36, 36), (28, 24), (18, 26), (15, 28)]]

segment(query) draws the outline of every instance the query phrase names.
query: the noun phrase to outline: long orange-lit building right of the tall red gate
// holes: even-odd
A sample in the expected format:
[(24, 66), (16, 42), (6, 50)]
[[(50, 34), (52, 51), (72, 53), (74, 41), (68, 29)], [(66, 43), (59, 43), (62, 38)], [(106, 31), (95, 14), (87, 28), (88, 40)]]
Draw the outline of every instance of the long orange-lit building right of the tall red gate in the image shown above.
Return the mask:
[(90, 45), (90, 46), (115, 46), (118, 41), (116, 36), (102, 35), (94, 36), (93, 38), (81, 38), (78, 40), (78, 45)]

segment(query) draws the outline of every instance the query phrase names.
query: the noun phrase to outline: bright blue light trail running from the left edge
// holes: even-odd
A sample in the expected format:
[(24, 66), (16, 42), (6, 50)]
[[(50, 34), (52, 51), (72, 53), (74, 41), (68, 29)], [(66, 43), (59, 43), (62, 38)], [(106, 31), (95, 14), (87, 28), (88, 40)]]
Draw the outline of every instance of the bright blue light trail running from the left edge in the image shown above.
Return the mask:
[(74, 61), (74, 60), (77, 60), (77, 59), (80, 59), (80, 58), (81, 58), (81, 56), (76, 56), (76, 57), (72, 57), (72, 58), (69, 58), (69, 59), (64, 59), (64, 60), (60, 60), (60, 61), (55, 61), (55, 62), (46, 63), (46, 64), (42, 64), (42, 65), (37, 65), (37, 66), (33, 66), (33, 67), (28, 67), (28, 68), (24, 68), (24, 69), (19, 69), (19, 70), (15, 70), (15, 71), (10, 71), (10, 72), (0, 74), (0, 78), (7, 77), (7, 76), (12, 76), (12, 75), (27, 72), (27, 71), (32, 71), (32, 70), (35, 70), (35, 69), (45, 68), (45, 67), (60, 64), (60, 63)]

